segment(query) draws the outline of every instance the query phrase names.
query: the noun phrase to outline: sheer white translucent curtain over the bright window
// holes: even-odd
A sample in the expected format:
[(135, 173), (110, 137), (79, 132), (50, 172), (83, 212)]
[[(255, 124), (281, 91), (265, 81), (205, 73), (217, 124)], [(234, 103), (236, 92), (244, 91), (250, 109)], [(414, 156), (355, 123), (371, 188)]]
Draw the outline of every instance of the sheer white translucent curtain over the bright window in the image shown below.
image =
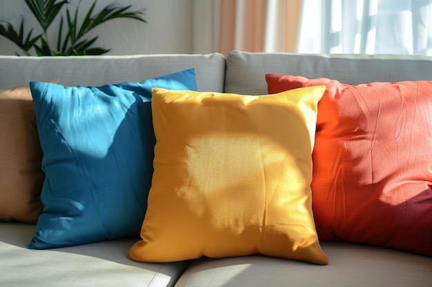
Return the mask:
[(431, 0), (304, 0), (298, 52), (432, 55)]

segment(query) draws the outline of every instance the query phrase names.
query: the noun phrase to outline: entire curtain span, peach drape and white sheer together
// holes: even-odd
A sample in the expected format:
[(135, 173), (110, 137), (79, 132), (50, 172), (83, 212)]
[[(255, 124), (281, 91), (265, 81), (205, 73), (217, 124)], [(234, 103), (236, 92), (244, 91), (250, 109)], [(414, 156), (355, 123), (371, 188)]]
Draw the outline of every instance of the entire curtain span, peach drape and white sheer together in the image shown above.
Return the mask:
[(193, 52), (432, 55), (432, 0), (193, 0)]

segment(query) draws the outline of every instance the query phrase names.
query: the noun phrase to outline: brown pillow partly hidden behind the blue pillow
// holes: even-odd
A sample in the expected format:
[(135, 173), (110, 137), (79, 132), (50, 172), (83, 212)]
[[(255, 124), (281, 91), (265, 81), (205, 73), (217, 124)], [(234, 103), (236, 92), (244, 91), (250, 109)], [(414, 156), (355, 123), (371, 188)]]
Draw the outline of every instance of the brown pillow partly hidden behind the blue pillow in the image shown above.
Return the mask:
[[(58, 83), (59, 79), (49, 82)], [(42, 213), (42, 149), (29, 85), (0, 91), (0, 220), (35, 224)]]

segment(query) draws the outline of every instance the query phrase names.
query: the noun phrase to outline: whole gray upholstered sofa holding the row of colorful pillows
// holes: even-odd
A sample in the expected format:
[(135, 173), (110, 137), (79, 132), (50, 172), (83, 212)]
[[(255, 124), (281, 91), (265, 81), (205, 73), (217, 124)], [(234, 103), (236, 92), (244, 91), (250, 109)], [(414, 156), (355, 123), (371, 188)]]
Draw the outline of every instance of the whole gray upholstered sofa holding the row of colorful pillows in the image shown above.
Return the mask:
[[(426, 56), (247, 52), (230, 52), (227, 57), (221, 54), (0, 56), (0, 89), (51, 78), (59, 78), (62, 85), (138, 82), (192, 67), (199, 91), (254, 95), (267, 94), (267, 73), (327, 77), (351, 85), (432, 79), (432, 58)], [(35, 230), (35, 224), (0, 222), (0, 286), (426, 287), (432, 284), (432, 257), (342, 240), (320, 242), (328, 256), (326, 266), (264, 255), (139, 263), (128, 259), (128, 250), (138, 237), (30, 250), (28, 244)]]

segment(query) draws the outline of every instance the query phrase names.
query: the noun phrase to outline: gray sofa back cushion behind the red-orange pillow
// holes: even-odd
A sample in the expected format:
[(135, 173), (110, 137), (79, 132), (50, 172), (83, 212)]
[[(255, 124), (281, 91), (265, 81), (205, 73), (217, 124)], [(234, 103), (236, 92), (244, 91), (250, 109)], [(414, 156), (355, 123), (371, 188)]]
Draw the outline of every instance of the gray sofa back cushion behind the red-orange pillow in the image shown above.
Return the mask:
[(267, 94), (267, 73), (333, 78), (350, 85), (432, 80), (432, 57), (233, 51), (226, 59), (225, 92)]

